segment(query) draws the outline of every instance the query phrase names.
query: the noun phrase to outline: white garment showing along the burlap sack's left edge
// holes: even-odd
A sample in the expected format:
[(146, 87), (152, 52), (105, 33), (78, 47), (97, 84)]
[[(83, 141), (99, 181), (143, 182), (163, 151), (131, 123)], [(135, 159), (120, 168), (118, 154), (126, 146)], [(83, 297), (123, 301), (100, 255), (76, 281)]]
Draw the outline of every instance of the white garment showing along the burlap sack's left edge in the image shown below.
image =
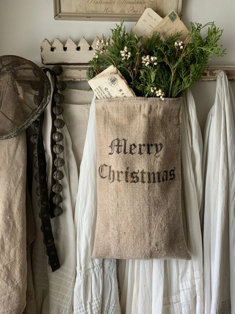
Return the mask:
[(96, 118), (93, 97), (75, 209), (77, 249), (74, 314), (120, 314), (115, 259), (92, 259), (97, 215)]

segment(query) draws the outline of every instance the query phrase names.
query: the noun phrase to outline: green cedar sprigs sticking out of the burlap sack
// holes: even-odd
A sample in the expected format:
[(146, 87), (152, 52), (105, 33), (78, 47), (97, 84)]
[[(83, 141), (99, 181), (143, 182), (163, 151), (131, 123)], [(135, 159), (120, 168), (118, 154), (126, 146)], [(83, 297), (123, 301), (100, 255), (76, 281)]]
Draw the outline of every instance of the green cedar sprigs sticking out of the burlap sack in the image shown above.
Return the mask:
[[(208, 27), (207, 36), (202, 38), (201, 30), (205, 27)], [(178, 97), (191, 84), (201, 79), (206, 63), (213, 54), (225, 54), (222, 45), (218, 45), (223, 30), (216, 28), (214, 22), (204, 26), (191, 22), (191, 30), (183, 47), (177, 44), (181, 35), (179, 32), (172, 34), (164, 42), (155, 32), (141, 46), (137, 43), (142, 37), (134, 35), (132, 30), (127, 33), (123, 21), (120, 25), (116, 24), (116, 28), (111, 29), (111, 32), (113, 43), (109, 43), (103, 35), (103, 45), (101, 48), (97, 45), (99, 50), (96, 50), (96, 57), (89, 62), (91, 66), (87, 71), (87, 78), (94, 78), (101, 73), (102, 67), (114, 65), (136, 96), (156, 96), (153, 92), (153, 87), (156, 87), (164, 91), (164, 97)], [(120, 51), (124, 47), (128, 48), (131, 57), (123, 60)], [(143, 56), (157, 57), (157, 64), (150, 62), (146, 66), (146, 62), (142, 62)]]

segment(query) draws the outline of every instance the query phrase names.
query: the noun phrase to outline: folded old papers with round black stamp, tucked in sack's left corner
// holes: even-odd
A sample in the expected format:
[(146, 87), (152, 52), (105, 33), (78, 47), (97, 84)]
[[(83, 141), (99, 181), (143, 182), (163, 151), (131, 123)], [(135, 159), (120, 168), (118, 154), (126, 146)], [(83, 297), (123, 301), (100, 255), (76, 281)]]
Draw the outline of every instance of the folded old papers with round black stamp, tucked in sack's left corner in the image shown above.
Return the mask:
[(88, 81), (98, 99), (135, 97), (122, 74), (113, 65)]

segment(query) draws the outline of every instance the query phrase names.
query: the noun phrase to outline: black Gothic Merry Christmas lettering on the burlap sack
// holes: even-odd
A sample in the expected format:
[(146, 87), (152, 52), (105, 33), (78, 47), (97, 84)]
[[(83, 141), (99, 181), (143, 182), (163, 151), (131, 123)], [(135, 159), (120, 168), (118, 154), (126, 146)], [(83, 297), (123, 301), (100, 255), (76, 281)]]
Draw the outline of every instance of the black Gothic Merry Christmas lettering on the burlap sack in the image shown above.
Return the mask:
[[(113, 154), (143, 154), (152, 155), (154, 158), (160, 157), (160, 152), (163, 149), (162, 143), (132, 143), (127, 145), (127, 139), (115, 138), (108, 146), (108, 155)], [(101, 179), (109, 180), (110, 183), (114, 181), (125, 183), (160, 183), (167, 182), (175, 179), (175, 167), (170, 170), (144, 170), (136, 169), (130, 171), (129, 167), (125, 170), (113, 169), (112, 165), (101, 164), (98, 169), (99, 177)]]

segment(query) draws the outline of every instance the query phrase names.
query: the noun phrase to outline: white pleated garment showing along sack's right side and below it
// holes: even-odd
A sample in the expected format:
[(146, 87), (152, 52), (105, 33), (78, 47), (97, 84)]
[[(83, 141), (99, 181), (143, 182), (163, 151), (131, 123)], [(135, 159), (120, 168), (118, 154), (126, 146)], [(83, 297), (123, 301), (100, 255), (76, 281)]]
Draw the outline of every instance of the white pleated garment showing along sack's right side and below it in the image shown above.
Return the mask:
[(191, 91), (183, 96), (181, 167), (186, 260), (119, 260), (123, 314), (203, 314), (202, 137)]

